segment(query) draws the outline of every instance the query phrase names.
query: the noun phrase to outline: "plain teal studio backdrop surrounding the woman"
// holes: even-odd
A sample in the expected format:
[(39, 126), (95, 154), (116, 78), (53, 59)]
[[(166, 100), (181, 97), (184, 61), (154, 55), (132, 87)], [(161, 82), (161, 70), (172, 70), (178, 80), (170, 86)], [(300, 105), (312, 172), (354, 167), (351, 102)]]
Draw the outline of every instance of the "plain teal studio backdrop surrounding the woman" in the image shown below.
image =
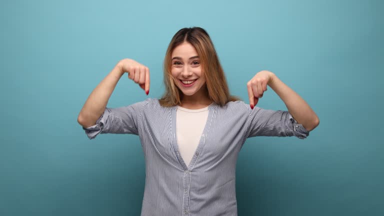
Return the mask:
[[(247, 139), (239, 215), (384, 215), (382, 1), (0, 4), (0, 215), (139, 215), (138, 136), (89, 140), (77, 115), (125, 57), (149, 67), (149, 97), (159, 98), (166, 47), (191, 26), (210, 34), (232, 94), (248, 103), (246, 82), (267, 69), (320, 119), (304, 140)], [(107, 106), (145, 98), (125, 74)], [(285, 109), (271, 88), (257, 105)]]

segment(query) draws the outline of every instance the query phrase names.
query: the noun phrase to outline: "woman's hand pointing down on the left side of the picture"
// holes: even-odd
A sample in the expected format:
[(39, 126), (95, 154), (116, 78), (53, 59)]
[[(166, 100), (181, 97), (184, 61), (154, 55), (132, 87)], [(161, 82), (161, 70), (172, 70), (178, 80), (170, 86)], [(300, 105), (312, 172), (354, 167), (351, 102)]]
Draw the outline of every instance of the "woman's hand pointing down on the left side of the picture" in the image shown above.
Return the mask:
[(136, 82), (148, 95), (149, 93), (149, 68), (137, 61), (124, 58), (117, 63), (121, 72), (128, 73), (128, 78)]

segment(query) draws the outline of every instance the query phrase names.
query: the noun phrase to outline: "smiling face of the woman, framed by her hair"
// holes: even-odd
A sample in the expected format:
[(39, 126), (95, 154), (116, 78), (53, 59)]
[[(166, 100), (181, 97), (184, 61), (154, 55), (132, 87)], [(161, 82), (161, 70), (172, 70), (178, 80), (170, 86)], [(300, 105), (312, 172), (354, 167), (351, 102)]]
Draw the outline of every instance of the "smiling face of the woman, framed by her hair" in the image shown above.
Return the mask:
[(201, 71), (200, 58), (189, 42), (183, 42), (171, 54), (171, 75), (184, 95), (193, 95), (203, 90), (205, 77)]

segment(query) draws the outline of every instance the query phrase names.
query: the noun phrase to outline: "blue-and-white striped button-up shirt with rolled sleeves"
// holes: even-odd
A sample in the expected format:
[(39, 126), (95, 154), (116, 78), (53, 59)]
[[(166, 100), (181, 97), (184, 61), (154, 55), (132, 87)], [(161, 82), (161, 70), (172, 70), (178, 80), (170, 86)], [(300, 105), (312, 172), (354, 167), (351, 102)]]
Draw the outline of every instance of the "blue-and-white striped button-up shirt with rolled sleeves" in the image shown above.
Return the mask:
[(186, 166), (177, 147), (176, 106), (162, 107), (148, 98), (108, 108), (85, 130), (139, 135), (145, 157), (141, 216), (237, 215), (235, 167), (245, 139), (252, 136), (296, 136), (309, 132), (287, 111), (251, 109), (243, 101), (208, 106), (200, 142)]

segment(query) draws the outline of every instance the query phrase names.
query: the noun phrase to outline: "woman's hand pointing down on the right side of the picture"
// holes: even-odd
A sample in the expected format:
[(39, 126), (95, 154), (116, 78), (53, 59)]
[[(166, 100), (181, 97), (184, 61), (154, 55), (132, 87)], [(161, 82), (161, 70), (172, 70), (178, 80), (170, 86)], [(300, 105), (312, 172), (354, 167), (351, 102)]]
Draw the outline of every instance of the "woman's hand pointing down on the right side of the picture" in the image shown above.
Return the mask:
[(248, 88), (249, 105), (252, 109), (257, 104), (258, 98), (262, 97), (264, 91), (267, 90), (266, 86), (270, 83), (270, 81), (272, 81), (273, 76), (274, 73), (268, 70), (261, 70), (246, 83), (246, 87)]

